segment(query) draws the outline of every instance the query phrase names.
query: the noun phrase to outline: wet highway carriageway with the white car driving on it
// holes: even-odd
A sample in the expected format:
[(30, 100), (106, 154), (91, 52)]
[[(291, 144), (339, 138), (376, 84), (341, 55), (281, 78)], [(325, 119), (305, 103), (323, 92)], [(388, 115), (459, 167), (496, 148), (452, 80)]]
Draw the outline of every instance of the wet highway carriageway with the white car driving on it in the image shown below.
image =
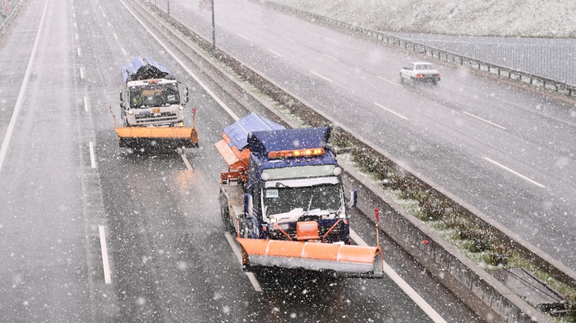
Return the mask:
[[(211, 39), (208, 9), (170, 14)], [(215, 17), (221, 48), (576, 269), (573, 102), (448, 64), (438, 86), (400, 84), (426, 57), (252, 1), (216, 1)]]

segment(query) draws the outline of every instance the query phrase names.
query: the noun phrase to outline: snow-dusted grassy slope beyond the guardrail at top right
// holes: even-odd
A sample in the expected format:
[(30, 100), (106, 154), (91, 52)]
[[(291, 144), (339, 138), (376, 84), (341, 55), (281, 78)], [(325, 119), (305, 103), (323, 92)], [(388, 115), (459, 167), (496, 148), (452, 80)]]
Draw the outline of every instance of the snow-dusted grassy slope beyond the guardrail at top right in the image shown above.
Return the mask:
[(383, 32), (576, 38), (574, 0), (275, 0)]

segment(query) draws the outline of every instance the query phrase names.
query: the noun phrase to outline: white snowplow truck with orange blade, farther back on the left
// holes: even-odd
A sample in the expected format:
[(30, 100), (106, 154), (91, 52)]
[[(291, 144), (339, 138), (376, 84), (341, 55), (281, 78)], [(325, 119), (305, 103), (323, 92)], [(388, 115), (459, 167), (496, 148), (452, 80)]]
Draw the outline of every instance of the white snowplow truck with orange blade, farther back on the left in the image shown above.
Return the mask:
[[(115, 125), (120, 147), (198, 147), (194, 126), (184, 127), (188, 87), (163, 64), (148, 57), (135, 57), (120, 70), (123, 127)], [(184, 95), (180, 95), (183, 89)]]

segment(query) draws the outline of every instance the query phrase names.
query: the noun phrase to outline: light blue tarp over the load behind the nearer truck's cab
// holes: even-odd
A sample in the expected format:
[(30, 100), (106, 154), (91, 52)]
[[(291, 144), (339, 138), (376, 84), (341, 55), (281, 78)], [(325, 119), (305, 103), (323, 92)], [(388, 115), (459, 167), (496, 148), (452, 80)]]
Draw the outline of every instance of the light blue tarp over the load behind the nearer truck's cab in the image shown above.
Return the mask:
[(236, 145), (238, 150), (242, 150), (248, 145), (248, 133), (281, 129), (286, 128), (275, 124), (267, 118), (260, 117), (256, 113), (251, 113), (234, 122), (231, 126), (224, 128), (224, 133), (230, 138), (230, 148)]

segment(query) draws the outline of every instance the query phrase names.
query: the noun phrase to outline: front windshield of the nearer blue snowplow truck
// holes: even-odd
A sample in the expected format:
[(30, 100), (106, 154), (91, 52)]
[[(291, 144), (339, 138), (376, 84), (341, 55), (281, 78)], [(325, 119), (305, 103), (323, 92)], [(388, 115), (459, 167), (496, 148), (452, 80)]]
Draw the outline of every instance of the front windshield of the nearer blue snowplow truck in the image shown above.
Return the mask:
[(263, 189), (264, 213), (328, 215), (336, 213), (342, 203), (342, 184), (322, 184), (308, 187), (274, 187)]

